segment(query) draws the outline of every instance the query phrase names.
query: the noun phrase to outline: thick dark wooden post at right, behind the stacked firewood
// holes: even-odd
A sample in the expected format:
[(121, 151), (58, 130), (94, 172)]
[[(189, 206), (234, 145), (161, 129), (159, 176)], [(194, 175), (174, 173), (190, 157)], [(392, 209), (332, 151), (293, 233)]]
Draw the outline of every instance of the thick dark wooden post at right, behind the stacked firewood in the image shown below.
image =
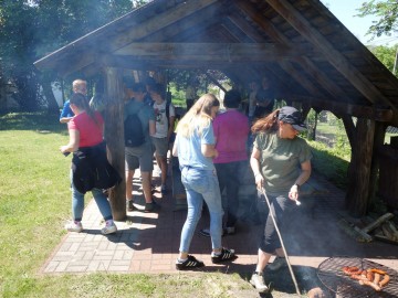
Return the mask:
[(363, 216), (369, 206), (369, 183), (375, 138), (375, 121), (358, 118), (348, 169), (346, 205), (354, 216)]

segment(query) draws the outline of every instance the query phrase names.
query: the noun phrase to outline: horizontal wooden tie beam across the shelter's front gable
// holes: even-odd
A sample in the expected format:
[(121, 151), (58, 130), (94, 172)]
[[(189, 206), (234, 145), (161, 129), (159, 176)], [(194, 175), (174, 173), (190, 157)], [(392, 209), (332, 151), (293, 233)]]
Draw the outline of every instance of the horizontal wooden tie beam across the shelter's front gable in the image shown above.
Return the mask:
[(300, 46), (274, 43), (140, 43), (134, 42), (114, 52), (115, 55), (199, 61), (271, 61), (307, 53)]

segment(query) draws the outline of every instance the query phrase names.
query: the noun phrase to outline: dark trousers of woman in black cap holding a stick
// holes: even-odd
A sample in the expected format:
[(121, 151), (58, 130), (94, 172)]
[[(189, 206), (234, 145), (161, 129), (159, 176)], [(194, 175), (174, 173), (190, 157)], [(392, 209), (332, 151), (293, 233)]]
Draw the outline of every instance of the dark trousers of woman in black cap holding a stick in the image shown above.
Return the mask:
[[(259, 192), (259, 195), (262, 200), (265, 200), (264, 195), (261, 192)], [(280, 237), (277, 236), (275, 225), (273, 224), (273, 221), (271, 219), (270, 212), (272, 212), (272, 214), (274, 215), (277, 228), (281, 231), (281, 227), (283, 226), (283, 223), (285, 221), (285, 217), (283, 215), (287, 209), (291, 209), (294, 205), (294, 203), (287, 198), (287, 195), (266, 196), (270, 201), (271, 210), (269, 211), (266, 221), (264, 223), (264, 230), (260, 242), (260, 249), (268, 254), (274, 254), (275, 249), (281, 248), (282, 245)], [(264, 202), (264, 204), (266, 204), (266, 202)]]

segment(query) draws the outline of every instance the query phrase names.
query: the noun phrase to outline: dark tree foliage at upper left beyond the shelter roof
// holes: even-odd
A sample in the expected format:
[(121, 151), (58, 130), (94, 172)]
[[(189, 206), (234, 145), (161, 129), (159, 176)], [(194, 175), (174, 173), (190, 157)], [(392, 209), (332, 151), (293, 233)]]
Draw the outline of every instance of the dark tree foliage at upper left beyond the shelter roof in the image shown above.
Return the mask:
[(130, 0), (0, 0), (0, 84), (12, 82), (19, 89), (14, 99), (34, 109), (39, 83), (51, 91), (54, 77), (39, 73), (33, 62), (129, 10)]

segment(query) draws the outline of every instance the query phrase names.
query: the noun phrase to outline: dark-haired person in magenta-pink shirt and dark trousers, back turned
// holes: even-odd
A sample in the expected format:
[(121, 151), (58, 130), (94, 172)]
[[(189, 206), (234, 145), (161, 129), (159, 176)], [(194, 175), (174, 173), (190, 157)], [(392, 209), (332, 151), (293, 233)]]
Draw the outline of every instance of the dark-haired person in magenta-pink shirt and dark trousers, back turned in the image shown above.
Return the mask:
[[(220, 191), (226, 189), (227, 202), (223, 202), (223, 211), (227, 216), (224, 234), (234, 234), (238, 220), (238, 192), (242, 172), (247, 167), (248, 153), (247, 141), (249, 135), (249, 119), (238, 110), (241, 95), (232, 89), (226, 93), (223, 105), (226, 113), (220, 114), (213, 120), (216, 149), (219, 152), (213, 159)], [(208, 228), (200, 233), (208, 235)]]

